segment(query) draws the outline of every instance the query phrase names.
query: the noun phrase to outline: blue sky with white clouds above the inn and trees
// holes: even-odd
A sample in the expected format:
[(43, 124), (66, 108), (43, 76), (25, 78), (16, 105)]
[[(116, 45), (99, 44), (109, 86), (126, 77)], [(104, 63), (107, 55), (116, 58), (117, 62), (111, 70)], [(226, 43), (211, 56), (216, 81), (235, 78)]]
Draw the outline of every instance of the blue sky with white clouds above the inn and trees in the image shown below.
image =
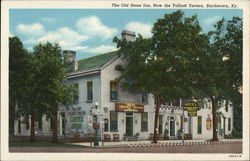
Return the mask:
[[(113, 37), (123, 30), (151, 37), (153, 24), (177, 9), (10, 9), (9, 35), (18, 36), (29, 51), (38, 43), (59, 43), (62, 50), (76, 51), (83, 59), (117, 50)], [(183, 9), (185, 17), (196, 14), (207, 33), (223, 17), (242, 18), (241, 9)]]

